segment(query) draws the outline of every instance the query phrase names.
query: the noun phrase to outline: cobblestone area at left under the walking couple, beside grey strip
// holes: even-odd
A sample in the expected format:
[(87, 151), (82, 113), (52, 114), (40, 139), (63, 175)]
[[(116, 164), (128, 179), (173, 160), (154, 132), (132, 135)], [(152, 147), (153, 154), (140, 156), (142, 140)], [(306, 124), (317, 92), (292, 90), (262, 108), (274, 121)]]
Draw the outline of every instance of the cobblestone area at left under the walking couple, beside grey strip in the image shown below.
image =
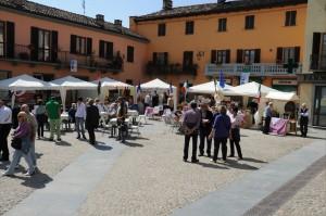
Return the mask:
[[(45, 132), (49, 137), (48, 132)], [(75, 134), (68, 132), (62, 136), (62, 142), (36, 140), (38, 168), (40, 173), (33, 177), (26, 177), (24, 167), (27, 167), (22, 158), (22, 166), (14, 177), (0, 177), (0, 215), (11, 209), (20, 201), (28, 196), (34, 190), (46, 187), (52, 177), (80, 154), (91, 148), (87, 142), (76, 140)], [(8, 164), (0, 163), (0, 171), (4, 171)], [(0, 175), (1, 176), (1, 175)]]

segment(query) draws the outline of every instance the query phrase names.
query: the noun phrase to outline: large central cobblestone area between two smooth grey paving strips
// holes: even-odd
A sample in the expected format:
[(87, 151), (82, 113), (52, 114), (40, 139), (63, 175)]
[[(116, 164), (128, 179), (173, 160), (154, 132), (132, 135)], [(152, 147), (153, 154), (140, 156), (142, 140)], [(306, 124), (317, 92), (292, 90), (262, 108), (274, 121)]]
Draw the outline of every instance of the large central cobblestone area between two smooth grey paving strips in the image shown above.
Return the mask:
[[(88, 195), (79, 215), (170, 215), (174, 208), (313, 141), (243, 129), (243, 161), (231, 158), (227, 164), (213, 164), (210, 158), (200, 157), (199, 164), (191, 164), (181, 162), (183, 136), (172, 132), (164, 123), (150, 124), (141, 130), (143, 138), (129, 142), (134, 148), (124, 151)], [(316, 137), (313, 132), (312, 136)]]

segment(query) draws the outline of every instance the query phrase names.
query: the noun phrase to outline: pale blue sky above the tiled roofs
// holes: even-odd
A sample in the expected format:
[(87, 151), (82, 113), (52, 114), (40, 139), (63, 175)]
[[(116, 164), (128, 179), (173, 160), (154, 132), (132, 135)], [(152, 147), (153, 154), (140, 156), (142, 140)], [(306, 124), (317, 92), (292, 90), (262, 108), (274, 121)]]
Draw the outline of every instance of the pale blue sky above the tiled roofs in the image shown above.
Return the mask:
[[(83, 0), (32, 0), (41, 4), (83, 14)], [(143, 15), (162, 9), (163, 0), (85, 0), (86, 15), (95, 17), (103, 14), (105, 21), (122, 20), (123, 25), (129, 26), (129, 16)], [(174, 0), (174, 7), (211, 3), (217, 0)]]

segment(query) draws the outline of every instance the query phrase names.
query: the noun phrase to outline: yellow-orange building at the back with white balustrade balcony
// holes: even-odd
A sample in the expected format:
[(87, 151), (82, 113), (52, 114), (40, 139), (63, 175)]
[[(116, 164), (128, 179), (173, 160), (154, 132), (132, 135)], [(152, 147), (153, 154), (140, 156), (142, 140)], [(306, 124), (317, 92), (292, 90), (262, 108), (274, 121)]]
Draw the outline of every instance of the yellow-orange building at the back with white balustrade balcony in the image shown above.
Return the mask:
[(147, 37), (147, 73), (181, 85), (224, 73), (226, 82), (250, 80), (297, 91), (303, 60), (306, 0), (240, 0), (163, 9), (130, 17), (130, 29)]

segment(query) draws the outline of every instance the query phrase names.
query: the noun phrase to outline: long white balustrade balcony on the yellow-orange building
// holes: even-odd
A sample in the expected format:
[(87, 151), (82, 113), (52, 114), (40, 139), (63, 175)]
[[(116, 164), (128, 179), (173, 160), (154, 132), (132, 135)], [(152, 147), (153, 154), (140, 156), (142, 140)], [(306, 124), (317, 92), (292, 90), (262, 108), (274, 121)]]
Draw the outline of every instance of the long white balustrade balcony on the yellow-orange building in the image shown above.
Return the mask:
[(275, 76), (275, 75), (296, 75), (301, 73), (302, 65), (299, 64), (298, 68), (293, 68), (293, 73), (289, 74), (288, 68), (283, 64), (275, 63), (254, 63), (246, 64), (206, 64), (205, 75), (216, 76), (220, 72), (226, 75), (240, 76), (242, 72), (249, 72), (252, 76)]

